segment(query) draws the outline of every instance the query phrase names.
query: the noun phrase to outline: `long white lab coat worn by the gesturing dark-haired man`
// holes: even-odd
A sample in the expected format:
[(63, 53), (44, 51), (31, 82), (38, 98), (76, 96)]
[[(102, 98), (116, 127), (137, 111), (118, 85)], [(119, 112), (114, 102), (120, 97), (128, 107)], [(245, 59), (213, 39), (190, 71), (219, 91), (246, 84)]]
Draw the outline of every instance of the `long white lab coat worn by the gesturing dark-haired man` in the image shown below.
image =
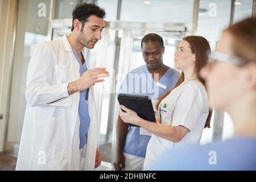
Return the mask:
[[(67, 36), (40, 44), (27, 72), (22, 136), (16, 170), (94, 170), (98, 139), (93, 86), (89, 89), (90, 127), (85, 168), (80, 168), (79, 99), (68, 82), (80, 77)], [(55, 101), (55, 102), (54, 102)]]

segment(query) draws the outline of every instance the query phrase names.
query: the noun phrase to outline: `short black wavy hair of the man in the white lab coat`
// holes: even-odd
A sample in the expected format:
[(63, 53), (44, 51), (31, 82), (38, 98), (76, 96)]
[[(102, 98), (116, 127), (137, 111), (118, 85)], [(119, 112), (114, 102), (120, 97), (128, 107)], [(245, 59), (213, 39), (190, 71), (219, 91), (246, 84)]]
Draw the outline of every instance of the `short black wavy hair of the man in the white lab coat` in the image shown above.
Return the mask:
[[(88, 21), (89, 16), (95, 15), (98, 18), (105, 18), (106, 12), (101, 7), (93, 4), (93, 3), (82, 3), (76, 5), (75, 9), (72, 11), (72, 29), (74, 30), (74, 20), (78, 19), (82, 23), (82, 30), (84, 29), (84, 24)], [(81, 30), (81, 31), (82, 31)]]

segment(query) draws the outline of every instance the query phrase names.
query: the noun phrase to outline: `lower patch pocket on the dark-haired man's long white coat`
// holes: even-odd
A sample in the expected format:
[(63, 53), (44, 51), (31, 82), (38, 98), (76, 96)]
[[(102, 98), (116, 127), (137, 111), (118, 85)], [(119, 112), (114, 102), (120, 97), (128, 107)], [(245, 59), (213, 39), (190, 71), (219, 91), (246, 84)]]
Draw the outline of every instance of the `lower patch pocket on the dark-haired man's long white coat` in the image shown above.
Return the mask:
[(49, 118), (35, 122), (33, 159), (67, 158), (65, 118)]

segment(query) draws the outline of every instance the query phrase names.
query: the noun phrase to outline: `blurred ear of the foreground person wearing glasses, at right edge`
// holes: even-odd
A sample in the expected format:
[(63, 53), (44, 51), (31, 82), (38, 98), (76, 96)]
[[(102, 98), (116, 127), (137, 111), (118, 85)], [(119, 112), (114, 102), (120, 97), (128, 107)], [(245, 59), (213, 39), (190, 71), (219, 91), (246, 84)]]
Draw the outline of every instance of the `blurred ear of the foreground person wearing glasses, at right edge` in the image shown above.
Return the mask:
[(246, 89), (256, 91), (256, 63), (248, 63), (244, 71)]

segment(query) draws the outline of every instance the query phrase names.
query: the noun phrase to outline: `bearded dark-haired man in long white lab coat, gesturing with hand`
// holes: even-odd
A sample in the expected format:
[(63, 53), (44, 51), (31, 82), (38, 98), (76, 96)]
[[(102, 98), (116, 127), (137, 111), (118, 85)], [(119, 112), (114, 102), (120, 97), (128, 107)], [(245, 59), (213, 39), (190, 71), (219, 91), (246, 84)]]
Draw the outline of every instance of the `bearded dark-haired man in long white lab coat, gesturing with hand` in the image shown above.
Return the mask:
[(27, 72), (22, 137), (16, 170), (93, 170), (100, 166), (93, 85), (109, 76), (87, 69), (82, 49), (101, 39), (105, 11), (83, 3), (73, 10), (72, 32), (44, 42)]

